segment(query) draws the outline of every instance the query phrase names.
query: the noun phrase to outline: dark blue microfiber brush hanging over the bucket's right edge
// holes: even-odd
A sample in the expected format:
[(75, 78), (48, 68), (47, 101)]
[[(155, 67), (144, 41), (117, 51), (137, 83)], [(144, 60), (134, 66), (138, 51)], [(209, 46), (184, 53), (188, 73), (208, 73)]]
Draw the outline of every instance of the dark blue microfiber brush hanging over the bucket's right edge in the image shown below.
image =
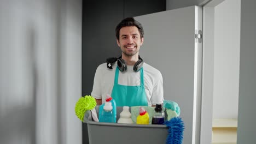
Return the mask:
[(173, 117), (170, 121), (165, 121), (168, 129), (167, 144), (182, 144), (184, 122), (181, 117)]

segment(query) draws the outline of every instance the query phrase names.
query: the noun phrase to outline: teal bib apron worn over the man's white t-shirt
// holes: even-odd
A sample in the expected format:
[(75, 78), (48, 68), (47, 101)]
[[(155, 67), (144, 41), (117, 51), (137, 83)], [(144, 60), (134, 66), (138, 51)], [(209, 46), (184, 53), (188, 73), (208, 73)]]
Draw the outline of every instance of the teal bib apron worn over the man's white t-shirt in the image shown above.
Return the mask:
[(118, 67), (115, 69), (115, 81), (111, 96), (115, 103), (117, 103), (117, 106), (148, 106), (143, 68), (139, 72), (141, 73), (140, 86), (124, 86), (118, 85), (119, 69)]

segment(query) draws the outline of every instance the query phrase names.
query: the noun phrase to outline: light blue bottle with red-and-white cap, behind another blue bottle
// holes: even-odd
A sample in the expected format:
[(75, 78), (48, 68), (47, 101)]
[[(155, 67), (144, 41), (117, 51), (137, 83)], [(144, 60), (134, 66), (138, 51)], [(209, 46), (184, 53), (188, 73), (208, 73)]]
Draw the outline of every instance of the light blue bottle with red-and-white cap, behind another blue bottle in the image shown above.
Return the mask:
[[(117, 122), (117, 104), (115, 103), (115, 100), (114, 100), (109, 94), (106, 95), (106, 102), (110, 102), (110, 103), (112, 104), (114, 122), (116, 123), (116, 122)], [(100, 109), (98, 110), (98, 113), (99, 113), (99, 115), (98, 115), (99, 120), (101, 119), (104, 105), (105, 105), (105, 104), (100, 105)]]

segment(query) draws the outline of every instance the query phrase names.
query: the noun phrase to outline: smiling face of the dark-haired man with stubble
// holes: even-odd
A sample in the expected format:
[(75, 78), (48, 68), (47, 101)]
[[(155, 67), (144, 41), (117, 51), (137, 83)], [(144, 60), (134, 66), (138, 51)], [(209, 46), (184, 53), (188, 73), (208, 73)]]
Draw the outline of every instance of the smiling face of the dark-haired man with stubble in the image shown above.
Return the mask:
[(133, 56), (138, 53), (139, 48), (143, 44), (143, 40), (144, 39), (141, 38), (137, 27), (123, 27), (120, 29), (117, 44), (124, 55)]

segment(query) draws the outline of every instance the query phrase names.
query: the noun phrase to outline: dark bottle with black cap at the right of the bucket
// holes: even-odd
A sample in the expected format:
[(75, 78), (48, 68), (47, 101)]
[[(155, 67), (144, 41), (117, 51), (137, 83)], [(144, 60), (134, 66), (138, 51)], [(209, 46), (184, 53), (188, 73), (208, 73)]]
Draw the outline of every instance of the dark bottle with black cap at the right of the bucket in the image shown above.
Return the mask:
[(165, 113), (162, 110), (161, 104), (156, 104), (155, 113), (152, 118), (152, 124), (164, 124), (165, 122)]

